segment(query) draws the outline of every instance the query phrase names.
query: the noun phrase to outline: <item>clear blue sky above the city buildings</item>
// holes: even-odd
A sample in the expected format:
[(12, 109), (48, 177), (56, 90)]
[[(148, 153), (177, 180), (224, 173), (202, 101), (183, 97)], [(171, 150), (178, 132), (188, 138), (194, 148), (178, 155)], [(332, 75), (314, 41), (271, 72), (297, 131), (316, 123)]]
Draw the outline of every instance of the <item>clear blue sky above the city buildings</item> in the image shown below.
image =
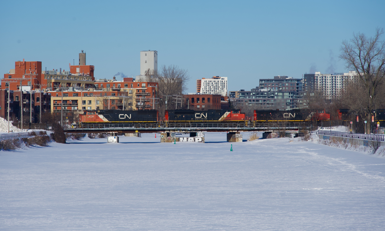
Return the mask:
[(383, 0), (2, 1), (0, 8), (2, 74), (22, 59), (68, 70), (84, 50), (95, 78), (135, 76), (139, 52), (157, 50), (159, 65), (189, 70), (188, 92), (214, 75), (227, 76), (229, 90), (249, 90), (275, 75), (345, 72), (341, 42), (385, 27)]

